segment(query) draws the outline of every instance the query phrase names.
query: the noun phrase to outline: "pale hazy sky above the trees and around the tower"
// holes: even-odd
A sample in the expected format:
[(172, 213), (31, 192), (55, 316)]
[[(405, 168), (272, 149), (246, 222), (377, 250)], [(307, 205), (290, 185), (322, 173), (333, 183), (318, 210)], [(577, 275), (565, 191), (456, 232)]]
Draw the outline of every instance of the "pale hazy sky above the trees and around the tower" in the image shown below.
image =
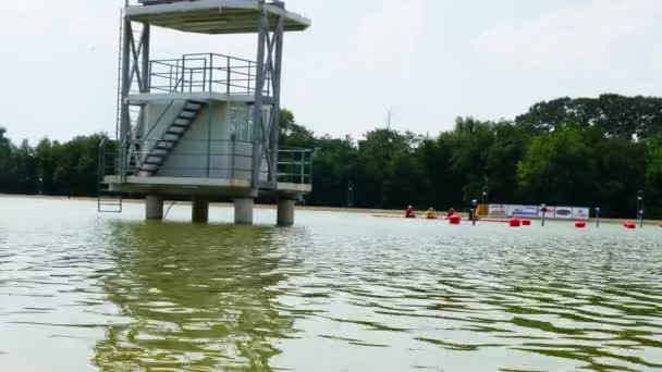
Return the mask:
[[(0, 126), (15, 141), (114, 134), (123, 0), (0, 1)], [(457, 116), (512, 119), (541, 100), (662, 91), (659, 0), (287, 0), (282, 103), (317, 135)], [(255, 60), (254, 36), (155, 29), (152, 58)]]

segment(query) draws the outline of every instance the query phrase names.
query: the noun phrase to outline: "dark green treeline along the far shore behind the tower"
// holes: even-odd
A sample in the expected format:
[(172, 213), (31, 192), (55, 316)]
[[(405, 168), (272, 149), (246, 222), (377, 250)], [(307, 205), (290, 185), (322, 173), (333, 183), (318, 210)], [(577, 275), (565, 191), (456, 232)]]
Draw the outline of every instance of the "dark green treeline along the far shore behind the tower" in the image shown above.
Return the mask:
[[(0, 128), (0, 193), (95, 196), (102, 134), (13, 144)], [(281, 115), (282, 146), (315, 149), (308, 204), (465, 208), (471, 199), (601, 207), (662, 216), (662, 99), (604, 95), (540, 102), (512, 121), (456, 120), (434, 137), (380, 128), (316, 136)]]

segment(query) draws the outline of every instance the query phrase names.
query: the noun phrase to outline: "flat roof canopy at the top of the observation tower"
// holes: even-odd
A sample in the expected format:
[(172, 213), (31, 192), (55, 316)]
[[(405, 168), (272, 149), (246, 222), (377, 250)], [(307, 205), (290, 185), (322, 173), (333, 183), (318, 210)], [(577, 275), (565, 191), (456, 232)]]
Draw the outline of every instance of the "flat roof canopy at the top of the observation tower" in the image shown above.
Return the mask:
[[(132, 21), (198, 34), (257, 33), (258, 0), (138, 0), (143, 5), (131, 5), (125, 15)], [(274, 27), (284, 16), (285, 30), (304, 30), (310, 20), (289, 12), (274, 3), (267, 3), (269, 24)]]

